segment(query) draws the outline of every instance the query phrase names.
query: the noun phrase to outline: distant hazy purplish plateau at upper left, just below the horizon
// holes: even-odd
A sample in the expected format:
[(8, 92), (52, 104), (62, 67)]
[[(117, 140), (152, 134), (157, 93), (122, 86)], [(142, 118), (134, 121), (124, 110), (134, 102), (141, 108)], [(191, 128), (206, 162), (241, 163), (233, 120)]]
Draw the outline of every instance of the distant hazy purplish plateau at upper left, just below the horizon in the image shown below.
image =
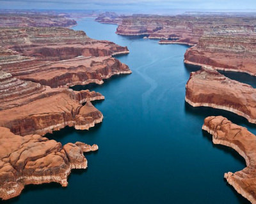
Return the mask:
[(0, 13), (0, 27), (70, 27), (76, 20), (42, 13)]

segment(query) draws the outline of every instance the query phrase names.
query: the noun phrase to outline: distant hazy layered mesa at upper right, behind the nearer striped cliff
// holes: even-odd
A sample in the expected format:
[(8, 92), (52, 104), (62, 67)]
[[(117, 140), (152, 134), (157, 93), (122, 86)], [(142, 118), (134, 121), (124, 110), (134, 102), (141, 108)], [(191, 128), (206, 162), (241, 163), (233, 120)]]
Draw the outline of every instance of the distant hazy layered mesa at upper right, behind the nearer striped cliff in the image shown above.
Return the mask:
[(117, 34), (159, 39), (159, 43), (196, 45), (205, 32), (246, 30), (255, 31), (255, 17), (225, 15), (132, 15), (122, 17)]

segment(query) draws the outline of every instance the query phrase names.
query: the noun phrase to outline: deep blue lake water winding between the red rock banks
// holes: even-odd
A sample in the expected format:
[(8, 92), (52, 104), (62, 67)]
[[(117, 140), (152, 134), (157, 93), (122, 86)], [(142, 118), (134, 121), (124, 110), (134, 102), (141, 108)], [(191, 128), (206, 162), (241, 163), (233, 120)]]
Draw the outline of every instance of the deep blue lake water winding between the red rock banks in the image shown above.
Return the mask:
[[(106, 97), (93, 103), (104, 114), (103, 122), (90, 131), (65, 128), (47, 135), (63, 144), (97, 143), (99, 151), (86, 154), (88, 169), (72, 171), (67, 188), (27, 186), (4, 203), (248, 203), (223, 179), (225, 172), (242, 170), (244, 159), (228, 147), (213, 145), (202, 125), (207, 116), (223, 115), (253, 133), (256, 126), (233, 113), (185, 103), (185, 85), (196, 70), (183, 63), (188, 47), (118, 36), (116, 25), (92, 18), (73, 29), (127, 46), (130, 54), (117, 58), (132, 74), (103, 85), (74, 87)], [(227, 75), (256, 84), (249, 75)]]

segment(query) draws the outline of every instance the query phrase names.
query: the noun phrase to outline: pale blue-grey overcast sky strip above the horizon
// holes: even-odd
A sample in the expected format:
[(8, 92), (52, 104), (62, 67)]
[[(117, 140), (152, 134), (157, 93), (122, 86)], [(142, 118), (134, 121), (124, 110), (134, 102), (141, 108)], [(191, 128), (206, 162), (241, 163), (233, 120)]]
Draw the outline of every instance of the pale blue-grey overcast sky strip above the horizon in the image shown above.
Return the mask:
[(216, 9), (255, 10), (256, 0), (0, 0), (0, 8), (15, 9), (86, 9), (122, 10), (157, 9)]

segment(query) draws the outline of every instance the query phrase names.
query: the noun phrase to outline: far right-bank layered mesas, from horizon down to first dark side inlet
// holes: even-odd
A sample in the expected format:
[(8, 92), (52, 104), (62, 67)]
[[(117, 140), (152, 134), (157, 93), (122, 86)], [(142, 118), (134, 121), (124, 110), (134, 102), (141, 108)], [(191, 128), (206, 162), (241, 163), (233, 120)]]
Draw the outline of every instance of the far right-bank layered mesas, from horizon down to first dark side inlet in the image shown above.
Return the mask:
[(159, 44), (192, 46), (184, 55), (186, 64), (256, 75), (255, 16), (234, 13), (116, 16), (106, 13), (97, 20), (104, 23), (106, 19), (108, 23), (118, 24), (116, 34), (158, 39)]

